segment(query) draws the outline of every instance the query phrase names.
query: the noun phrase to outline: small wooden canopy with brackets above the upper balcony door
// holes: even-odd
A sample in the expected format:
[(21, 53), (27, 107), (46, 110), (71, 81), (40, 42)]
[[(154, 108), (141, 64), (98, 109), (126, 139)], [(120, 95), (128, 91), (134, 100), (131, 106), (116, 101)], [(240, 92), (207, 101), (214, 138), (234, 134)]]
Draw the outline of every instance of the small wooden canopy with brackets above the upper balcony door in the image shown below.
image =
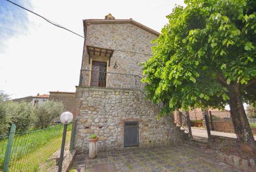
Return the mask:
[(113, 56), (114, 50), (108, 48), (101, 48), (97, 46), (86, 45), (87, 53), (89, 55), (89, 64), (91, 63), (91, 56), (102, 56), (102, 57), (109, 57), (109, 66), (110, 66), (110, 59)]

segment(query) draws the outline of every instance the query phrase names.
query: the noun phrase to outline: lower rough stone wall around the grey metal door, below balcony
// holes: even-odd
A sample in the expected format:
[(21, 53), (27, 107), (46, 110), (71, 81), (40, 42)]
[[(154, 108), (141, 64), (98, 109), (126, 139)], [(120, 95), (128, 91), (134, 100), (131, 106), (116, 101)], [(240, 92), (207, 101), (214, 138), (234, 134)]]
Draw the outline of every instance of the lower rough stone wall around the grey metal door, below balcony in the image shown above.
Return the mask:
[(185, 137), (169, 117), (158, 120), (159, 108), (138, 90), (77, 86), (75, 109), (78, 153), (88, 153), (91, 134), (99, 137), (98, 151), (122, 150), (127, 120), (139, 122), (139, 148), (177, 144)]

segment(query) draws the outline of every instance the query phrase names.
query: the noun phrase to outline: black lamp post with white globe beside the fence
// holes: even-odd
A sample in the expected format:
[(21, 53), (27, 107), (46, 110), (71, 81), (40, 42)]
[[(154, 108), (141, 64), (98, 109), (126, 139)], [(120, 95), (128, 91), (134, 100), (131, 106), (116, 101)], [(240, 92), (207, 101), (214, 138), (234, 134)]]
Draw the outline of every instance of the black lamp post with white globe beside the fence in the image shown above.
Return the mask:
[(60, 115), (60, 121), (64, 124), (63, 136), (62, 136), (62, 144), (59, 156), (59, 169), (58, 172), (62, 170), (62, 161), (64, 155), (64, 148), (65, 148), (65, 141), (66, 141), (66, 133), (67, 133), (67, 126), (73, 120), (73, 114), (71, 112), (63, 112)]

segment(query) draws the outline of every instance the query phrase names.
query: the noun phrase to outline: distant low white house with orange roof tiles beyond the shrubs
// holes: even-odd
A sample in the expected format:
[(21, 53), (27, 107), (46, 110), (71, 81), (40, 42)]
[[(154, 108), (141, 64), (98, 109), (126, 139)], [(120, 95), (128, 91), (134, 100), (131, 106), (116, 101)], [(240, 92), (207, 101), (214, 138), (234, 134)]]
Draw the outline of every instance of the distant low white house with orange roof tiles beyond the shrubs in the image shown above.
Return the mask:
[(33, 105), (40, 105), (49, 101), (49, 94), (37, 94), (36, 96), (27, 96), (18, 99), (13, 99), (13, 102), (31, 102)]

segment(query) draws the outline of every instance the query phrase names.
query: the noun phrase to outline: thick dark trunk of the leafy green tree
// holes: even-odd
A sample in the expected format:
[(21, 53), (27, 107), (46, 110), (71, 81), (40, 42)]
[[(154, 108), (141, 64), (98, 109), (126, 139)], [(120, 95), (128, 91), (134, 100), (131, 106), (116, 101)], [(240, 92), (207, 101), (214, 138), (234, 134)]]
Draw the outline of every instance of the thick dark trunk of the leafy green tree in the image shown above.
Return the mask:
[(256, 144), (246, 117), (245, 109), (242, 102), (240, 85), (237, 83), (230, 83), (228, 85), (229, 106), (231, 117), (233, 119), (234, 129), (237, 132), (239, 140), (247, 144), (253, 151), (255, 151)]

